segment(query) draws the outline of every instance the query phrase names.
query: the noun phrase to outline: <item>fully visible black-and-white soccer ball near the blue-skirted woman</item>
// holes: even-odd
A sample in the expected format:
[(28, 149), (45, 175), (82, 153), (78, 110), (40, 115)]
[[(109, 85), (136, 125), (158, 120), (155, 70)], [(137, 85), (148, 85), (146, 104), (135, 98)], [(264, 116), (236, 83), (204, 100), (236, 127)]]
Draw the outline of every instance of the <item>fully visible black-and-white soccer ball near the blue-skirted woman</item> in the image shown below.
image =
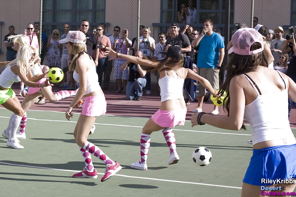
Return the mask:
[(212, 161), (212, 153), (205, 147), (199, 147), (192, 153), (194, 163), (199, 166), (206, 166)]

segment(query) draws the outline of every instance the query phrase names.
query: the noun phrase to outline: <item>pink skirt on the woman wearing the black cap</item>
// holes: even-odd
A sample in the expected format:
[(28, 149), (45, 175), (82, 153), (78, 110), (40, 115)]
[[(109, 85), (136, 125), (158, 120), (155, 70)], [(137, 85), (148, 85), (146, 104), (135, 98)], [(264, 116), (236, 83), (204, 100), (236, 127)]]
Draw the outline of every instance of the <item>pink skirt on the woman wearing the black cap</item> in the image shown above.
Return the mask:
[(152, 120), (162, 127), (175, 127), (176, 125), (184, 125), (187, 108), (181, 110), (163, 111), (158, 110), (152, 115)]

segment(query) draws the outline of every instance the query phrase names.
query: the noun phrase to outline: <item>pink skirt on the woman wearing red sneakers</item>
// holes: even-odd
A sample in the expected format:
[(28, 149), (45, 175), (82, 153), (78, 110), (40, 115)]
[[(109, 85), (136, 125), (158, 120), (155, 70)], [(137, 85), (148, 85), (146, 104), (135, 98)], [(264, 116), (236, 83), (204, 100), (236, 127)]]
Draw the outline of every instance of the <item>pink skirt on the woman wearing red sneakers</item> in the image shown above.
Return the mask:
[(97, 117), (106, 113), (107, 102), (105, 95), (84, 97), (81, 114), (89, 117)]

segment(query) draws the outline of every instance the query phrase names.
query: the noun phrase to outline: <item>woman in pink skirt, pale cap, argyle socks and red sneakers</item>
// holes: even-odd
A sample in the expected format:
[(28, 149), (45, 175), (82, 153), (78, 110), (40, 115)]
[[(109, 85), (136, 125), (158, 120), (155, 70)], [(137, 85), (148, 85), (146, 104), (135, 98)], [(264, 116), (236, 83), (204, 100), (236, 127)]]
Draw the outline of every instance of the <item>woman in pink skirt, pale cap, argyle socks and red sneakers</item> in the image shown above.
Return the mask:
[(82, 104), (81, 100), (84, 100), (82, 112), (78, 118), (73, 135), (86, 166), (82, 172), (74, 174), (73, 177), (98, 177), (91, 160), (91, 154), (93, 154), (106, 164), (105, 174), (101, 179), (103, 182), (118, 172), (122, 167), (116, 161), (112, 161), (99, 147), (87, 140), (96, 117), (105, 114), (107, 107), (104, 93), (98, 82), (96, 65), (87, 52), (85, 44), (86, 37), (81, 31), (69, 31), (67, 37), (59, 42), (66, 43), (69, 53), (75, 55), (69, 65), (69, 70), (74, 71), (73, 78), (79, 82), (79, 89), (76, 96), (66, 111), (67, 120), (73, 118), (72, 109), (79, 107)]

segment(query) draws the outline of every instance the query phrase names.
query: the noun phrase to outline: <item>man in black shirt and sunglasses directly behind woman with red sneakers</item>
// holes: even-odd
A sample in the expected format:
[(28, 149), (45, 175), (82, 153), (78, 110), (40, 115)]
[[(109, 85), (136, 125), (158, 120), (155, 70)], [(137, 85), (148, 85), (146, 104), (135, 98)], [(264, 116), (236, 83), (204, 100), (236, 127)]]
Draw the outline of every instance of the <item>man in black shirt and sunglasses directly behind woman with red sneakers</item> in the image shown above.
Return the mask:
[(91, 57), (94, 59), (94, 63), (96, 66), (98, 66), (98, 58), (99, 58), (99, 44), (98, 39), (94, 33), (89, 31), (89, 21), (88, 20), (82, 20), (81, 21), (81, 32), (85, 34), (86, 36), (86, 48), (87, 52)]

